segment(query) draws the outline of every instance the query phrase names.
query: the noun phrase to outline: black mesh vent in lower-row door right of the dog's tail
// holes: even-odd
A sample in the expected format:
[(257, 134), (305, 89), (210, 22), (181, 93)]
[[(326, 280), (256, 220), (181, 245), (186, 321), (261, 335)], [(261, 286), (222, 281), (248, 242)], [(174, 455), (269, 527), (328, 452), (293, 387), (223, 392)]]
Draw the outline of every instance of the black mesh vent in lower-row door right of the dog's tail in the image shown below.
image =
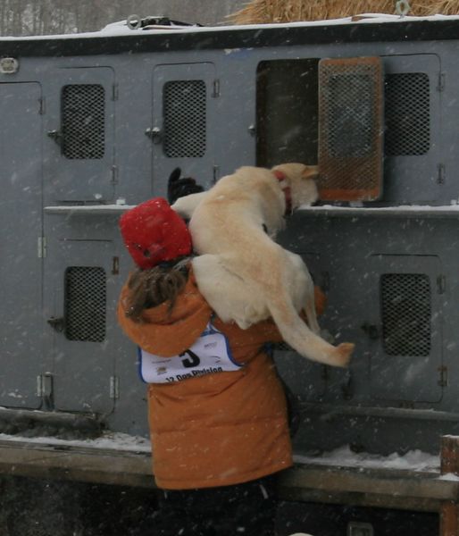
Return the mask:
[(382, 334), (389, 356), (429, 356), (430, 280), (419, 273), (381, 276)]

